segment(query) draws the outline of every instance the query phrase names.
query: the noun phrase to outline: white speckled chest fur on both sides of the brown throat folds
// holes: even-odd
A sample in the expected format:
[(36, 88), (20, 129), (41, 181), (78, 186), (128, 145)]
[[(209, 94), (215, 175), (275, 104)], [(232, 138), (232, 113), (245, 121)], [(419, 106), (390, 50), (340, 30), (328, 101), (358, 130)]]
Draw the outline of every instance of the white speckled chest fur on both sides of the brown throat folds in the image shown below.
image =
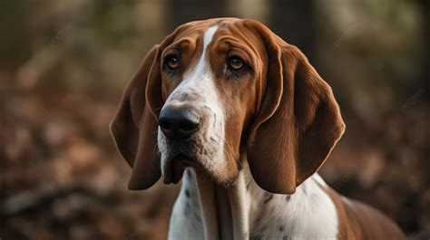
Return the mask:
[[(321, 188), (325, 183), (318, 174), (308, 178), (293, 195), (270, 194), (247, 176), (241, 174), (237, 182), (240, 186), (236, 186), (245, 196), (239, 197), (239, 205), (230, 206), (245, 211), (235, 217), (232, 209), (233, 221), (239, 219), (239, 225), (247, 225), (239, 226), (244, 239), (337, 239), (336, 207)], [(205, 202), (200, 201), (195, 178), (190, 169), (186, 170), (173, 207), (169, 239), (205, 239), (201, 212)], [(238, 223), (233, 226), (238, 227)]]

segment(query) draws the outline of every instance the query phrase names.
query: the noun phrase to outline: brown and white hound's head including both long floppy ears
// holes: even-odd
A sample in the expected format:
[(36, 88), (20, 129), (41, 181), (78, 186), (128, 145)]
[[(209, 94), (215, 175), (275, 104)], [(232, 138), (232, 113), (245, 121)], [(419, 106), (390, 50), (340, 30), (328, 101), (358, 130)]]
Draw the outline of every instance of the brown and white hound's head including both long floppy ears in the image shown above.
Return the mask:
[(181, 25), (154, 46), (123, 93), (111, 131), (129, 187), (195, 168), (229, 186), (248, 160), (260, 187), (288, 194), (322, 165), (345, 125), (297, 47), (252, 20)]

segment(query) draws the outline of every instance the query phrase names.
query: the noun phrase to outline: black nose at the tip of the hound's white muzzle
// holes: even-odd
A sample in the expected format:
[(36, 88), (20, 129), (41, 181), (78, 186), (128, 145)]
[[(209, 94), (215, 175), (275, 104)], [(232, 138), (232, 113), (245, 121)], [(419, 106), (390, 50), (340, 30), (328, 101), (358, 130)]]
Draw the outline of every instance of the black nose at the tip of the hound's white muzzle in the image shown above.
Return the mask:
[(191, 109), (168, 107), (161, 110), (158, 124), (168, 139), (188, 139), (199, 129), (200, 116)]

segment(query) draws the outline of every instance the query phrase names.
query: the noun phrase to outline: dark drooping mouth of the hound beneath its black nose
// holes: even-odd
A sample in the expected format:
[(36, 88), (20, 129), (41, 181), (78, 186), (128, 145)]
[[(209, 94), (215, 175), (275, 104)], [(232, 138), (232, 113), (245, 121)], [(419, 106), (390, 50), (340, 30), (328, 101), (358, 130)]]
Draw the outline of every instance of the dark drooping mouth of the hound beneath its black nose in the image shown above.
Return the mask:
[(185, 168), (200, 168), (197, 161), (190, 156), (179, 153), (166, 162), (162, 181), (164, 184), (177, 184), (183, 175)]

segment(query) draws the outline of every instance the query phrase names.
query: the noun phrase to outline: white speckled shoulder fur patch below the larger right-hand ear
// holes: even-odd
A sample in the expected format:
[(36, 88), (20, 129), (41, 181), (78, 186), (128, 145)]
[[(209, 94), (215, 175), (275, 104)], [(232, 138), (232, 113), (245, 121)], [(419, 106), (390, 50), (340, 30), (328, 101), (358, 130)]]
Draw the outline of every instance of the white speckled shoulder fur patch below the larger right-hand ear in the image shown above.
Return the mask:
[[(251, 236), (261, 239), (337, 239), (337, 210), (319, 186), (318, 174), (297, 187), (293, 195), (254, 191)], [(271, 197), (270, 197), (271, 196)]]

